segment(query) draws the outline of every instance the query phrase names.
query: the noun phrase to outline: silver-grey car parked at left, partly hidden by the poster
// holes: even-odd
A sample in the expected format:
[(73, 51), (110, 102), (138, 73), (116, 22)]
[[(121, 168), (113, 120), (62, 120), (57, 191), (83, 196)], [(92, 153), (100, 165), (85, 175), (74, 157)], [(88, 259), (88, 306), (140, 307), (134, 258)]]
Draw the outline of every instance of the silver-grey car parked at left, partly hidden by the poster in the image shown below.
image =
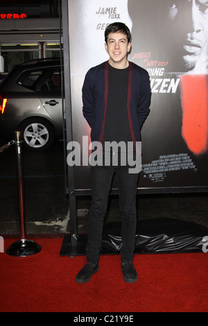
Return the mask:
[(44, 151), (63, 132), (60, 60), (24, 62), (0, 85), (0, 132), (21, 138), (28, 150)]

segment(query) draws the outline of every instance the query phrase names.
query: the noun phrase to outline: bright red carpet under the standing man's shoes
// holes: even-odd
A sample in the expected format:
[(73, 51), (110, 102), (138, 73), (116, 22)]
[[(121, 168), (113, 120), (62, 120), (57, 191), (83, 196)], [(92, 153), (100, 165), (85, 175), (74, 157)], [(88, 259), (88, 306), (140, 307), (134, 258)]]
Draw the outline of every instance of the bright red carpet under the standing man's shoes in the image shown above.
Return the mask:
[[(16, 240), (6, 239), (5, 250)], [(31, 257), (0, 253), (1, 312), (207, 312), (208, 254), (135, 255), (139, 280), (126, 284), (119, 255), (101, 256), (100, 270), (76, 284), (85, 257), (60, 257), (62, 239), (35, 240)]]

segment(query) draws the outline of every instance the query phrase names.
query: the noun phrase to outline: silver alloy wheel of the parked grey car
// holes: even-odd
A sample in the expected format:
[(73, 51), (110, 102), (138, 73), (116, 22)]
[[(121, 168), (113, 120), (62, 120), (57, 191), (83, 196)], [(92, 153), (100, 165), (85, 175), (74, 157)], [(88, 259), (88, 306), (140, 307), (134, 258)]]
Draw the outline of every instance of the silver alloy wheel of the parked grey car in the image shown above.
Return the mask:
[(51, 123), (42, 118), (31, 118), (19, 126), (24, 148), (29, 151), (45, 151), (53, 144), (54, 131)]

